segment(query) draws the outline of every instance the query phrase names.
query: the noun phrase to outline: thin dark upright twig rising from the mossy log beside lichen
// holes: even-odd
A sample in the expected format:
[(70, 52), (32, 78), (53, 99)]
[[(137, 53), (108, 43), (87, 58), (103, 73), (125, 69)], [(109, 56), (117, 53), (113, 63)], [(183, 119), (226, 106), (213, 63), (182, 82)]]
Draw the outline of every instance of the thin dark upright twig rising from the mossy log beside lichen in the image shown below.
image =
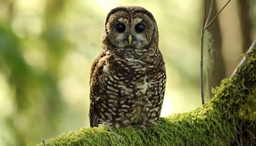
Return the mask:
[(204, 66), (204, 27), (205, 27), (205, 16), (206, 16), (206, 4), (207, 0), (205, 0), (204, 5), (204, 23), (201, 35), (201, 63), (200, 63), (200, 82), (201, 82), (201, 97), (202, 97), (202, 104), (204, 104), (204, 78), (203, 78), (203, 66)]

